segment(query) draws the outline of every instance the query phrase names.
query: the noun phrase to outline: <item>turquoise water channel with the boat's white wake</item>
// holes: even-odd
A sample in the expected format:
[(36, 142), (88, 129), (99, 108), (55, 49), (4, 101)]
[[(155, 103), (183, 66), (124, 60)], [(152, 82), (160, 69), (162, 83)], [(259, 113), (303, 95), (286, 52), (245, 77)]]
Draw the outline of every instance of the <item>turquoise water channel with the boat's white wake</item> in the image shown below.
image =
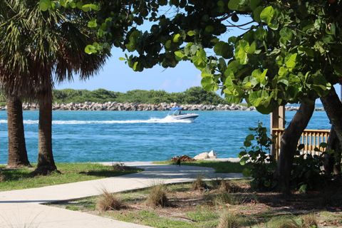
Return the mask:
[[(167, 112), (54, 111), (53, 153), (57, 162), (167, 160), (215, 150), (219, 157), (237, 157), (248, 128), (269, 115), (244, 111), (195, 111), (194, 123), (172, 123)], [(286, 112), (289, 122), (295, 112)], [(28, 157), (37, 159), (38, 112), (25, 111)], [(328, 129), (325, 112), (315, 112), (311, 129)], [(6, 112), (0, 111), (0, 163), (7, 159)]]

